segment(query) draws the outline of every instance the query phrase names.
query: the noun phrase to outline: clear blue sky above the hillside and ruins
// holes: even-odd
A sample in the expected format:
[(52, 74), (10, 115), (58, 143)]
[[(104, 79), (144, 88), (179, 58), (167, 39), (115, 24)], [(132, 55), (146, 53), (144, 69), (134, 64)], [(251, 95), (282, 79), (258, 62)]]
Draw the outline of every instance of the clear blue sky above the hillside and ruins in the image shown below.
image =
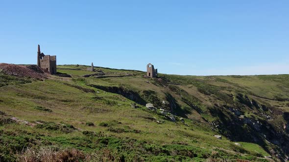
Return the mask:
[(289, 74), (289, 0), (1, 0), (0, 62)]

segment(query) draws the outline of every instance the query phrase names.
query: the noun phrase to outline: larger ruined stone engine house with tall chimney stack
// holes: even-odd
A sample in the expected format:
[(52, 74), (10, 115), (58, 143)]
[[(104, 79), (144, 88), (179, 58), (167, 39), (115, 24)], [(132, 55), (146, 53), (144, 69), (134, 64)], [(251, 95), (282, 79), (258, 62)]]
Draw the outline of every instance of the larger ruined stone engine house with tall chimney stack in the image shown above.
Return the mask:
[(47, 70), (50, 74), (56, 74), (56, 56), (44, 55), (40, 52), (40, 45), (38, 44), (37, 65)]

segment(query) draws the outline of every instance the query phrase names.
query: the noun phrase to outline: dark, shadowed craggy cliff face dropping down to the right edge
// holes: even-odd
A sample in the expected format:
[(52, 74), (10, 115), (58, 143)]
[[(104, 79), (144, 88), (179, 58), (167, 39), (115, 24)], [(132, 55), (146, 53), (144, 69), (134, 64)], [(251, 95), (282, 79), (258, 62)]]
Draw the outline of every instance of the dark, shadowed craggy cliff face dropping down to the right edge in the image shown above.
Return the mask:
[[(185, 90), (175, 85), (169, 85), (168, 82), (161, 82), (158, 85), (163, 86), (165, 89), (170, 86), (168, 88), (169, 91), (165, 93), (165, 99), (159, 98), (158, 93), (153, 90), (133, 91), (123, 85), (120, 87), (90, 86), (106, 92), (120, 94), (139, 104), (145, 105), (145, 103), (152, 103), (157, 108), (165, 109), (169, 113), (180, 117), (188, 118), (188, 115), (193, 110), (200, 115), (209, 113), (212, 117), (215, 117), (215, 120), (204, 120), (212, 125), (213, 129), (229, 138), (231, 141), (258, 143), (271, 155), (278, 157), (283, 161), (288, 158), (288, 112), (283, 112), (279, 108), (268, 105), (268, 103), (265, 105), (255, 101), (254, 99), (249, 98), (248, 95), (243, 95), (241, 93), (231, 96), (234, 103), (233, 105), (223, 104), (220, 106), (219, 103), (216, 102), (214, 106), (208, 107), (208, 112), (205, 112), (199, 108), (201, 105), (199, 102), (194, 102), (200, 100), (195, 99), (194, 96)], [(177, 98), (173, 97), (173, 95), (175, 96), (174, 92), (179, 95), (181, 101), (178, 101)], [(186, 109), (184, 109), (179, 102), (185, 103), (187, 105)], [(199, 104), (199, 106), (197, 104)], [(281, 119), (279, 123), (275, 123), (274, 121), (280, 120), (279, 118), (283, 119)]]

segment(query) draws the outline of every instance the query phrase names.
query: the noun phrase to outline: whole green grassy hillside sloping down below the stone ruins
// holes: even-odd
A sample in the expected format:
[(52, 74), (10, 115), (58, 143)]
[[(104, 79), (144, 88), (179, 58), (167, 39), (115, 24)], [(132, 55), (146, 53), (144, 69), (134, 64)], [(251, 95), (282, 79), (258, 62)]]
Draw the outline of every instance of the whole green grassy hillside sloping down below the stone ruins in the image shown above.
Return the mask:
[(289, 153), (289, 75), (147, 79), (86, 68), (61, 65), (72, 78), (44, 80), (0, 72), (1, 162), (268, 162)]

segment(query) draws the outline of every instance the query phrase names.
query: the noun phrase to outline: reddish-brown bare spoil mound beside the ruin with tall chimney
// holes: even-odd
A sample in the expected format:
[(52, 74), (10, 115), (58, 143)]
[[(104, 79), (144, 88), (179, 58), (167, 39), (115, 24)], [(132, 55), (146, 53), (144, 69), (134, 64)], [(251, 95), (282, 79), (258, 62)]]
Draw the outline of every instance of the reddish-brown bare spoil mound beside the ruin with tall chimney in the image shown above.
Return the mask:
[(0, 69), (2, 72), (8, 75), (16, 77), (30, 77), (35, 79), (44, 79), (45, 72), (36, 65), (24, 66), (24, 65), (15, 65), (8, 63), (0, 63)]

